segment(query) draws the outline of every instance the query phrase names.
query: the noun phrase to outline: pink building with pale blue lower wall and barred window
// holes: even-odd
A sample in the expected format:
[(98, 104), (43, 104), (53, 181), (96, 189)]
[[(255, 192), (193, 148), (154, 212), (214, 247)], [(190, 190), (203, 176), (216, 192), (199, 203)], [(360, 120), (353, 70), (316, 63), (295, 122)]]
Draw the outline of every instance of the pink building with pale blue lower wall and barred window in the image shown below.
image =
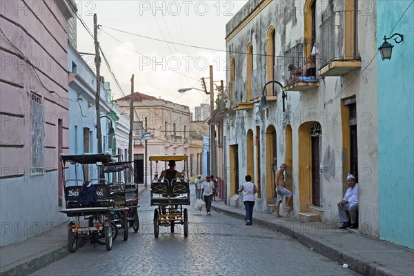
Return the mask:
[(0, 246), (62, 223), (73, 0), (0, 3)]

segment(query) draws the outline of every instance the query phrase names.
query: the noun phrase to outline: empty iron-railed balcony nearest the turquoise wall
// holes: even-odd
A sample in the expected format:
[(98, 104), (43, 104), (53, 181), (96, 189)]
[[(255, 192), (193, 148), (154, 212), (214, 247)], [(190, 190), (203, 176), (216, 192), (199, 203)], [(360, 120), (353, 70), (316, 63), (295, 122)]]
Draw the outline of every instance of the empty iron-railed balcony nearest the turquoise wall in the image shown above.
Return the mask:
[[(322, 75), (340, 76), (361, 67), (361, 58), (358, 55), (357, 48), (356, 23), (357, 12), (349, 10), (333, 12), (319, 26), (318, 57), (319, 70), (322, 70), (320, 72)], [(339, 62), (335, 63), (335, 61)], [(329, 66), (329, 68), (326, 66)], [(331, 72), (328, 72), (329, 70)]]

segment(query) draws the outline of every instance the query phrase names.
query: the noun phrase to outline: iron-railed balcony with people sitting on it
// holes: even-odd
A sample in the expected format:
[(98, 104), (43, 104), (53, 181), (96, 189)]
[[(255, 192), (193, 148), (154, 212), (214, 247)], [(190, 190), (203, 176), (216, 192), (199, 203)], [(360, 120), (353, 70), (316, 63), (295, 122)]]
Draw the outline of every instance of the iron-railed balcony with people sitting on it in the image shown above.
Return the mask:
[(311, 44), (297, 44), (284, 52), (284, 91), (304, 91), (319, 86)]

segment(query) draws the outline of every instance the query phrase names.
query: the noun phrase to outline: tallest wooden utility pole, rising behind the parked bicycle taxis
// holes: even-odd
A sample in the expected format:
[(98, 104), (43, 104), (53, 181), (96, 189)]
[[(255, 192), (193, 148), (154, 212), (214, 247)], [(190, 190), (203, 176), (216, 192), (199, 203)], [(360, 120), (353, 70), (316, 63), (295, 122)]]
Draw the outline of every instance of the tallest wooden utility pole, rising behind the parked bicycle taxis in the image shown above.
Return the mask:
[(97, 116), (97, 139), (98, 139), (98, 153), (102, 153), (102, 132), (101, 132), (101, 111), (99, 110), (101, 99), (101, 56), (99, 55), (99, 42), (98, 42), (98, 18), (97, 14), (93, 14), (93, 35), (95, 41), (95, 67), (97, 68), (97, 93), (95, 96), (95, 108)]

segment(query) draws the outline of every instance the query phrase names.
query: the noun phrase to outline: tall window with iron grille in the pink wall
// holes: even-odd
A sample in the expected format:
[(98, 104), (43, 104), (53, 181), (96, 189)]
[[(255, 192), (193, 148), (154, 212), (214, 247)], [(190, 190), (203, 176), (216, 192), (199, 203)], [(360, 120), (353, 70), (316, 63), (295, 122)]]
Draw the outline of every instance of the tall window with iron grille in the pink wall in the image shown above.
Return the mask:
[(31, 108), (32, 168), (30, 168), (30, 174), (41, 175), (45, 170), (45, 106), (43, 106), (43, 99), (34, 92), (32, 92)]

